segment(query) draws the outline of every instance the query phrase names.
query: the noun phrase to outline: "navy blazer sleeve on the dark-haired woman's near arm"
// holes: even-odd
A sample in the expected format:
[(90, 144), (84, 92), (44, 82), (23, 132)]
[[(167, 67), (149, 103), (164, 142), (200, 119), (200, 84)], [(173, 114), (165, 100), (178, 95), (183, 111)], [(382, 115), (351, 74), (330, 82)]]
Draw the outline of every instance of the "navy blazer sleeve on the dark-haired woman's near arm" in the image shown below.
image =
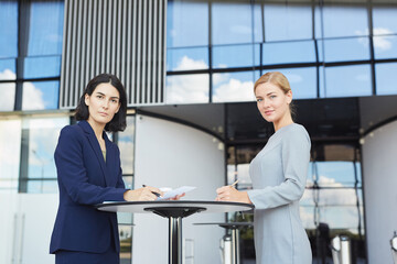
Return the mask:
[[(83, 157), (83, 140), (85, 139), (72, 127), (61, 131), (54, 154), (60, 185), (76, 204), (96, 205), (107, 200), (124, 200), (126, 189), (101, 187), (88, 182)], [(118, 182), (117, 186), (121, 187), (121, 184)]]

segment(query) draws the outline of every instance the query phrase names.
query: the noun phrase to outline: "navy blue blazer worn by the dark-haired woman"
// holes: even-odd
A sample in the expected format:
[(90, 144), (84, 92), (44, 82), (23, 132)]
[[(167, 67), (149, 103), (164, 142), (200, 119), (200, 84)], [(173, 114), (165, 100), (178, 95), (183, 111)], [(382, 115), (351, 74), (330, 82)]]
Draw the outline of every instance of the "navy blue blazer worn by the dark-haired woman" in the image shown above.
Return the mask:
[(50, 253), (58, 250), (103, 253), (120, 251), (117, 216), (96, 210), (106, 200), (122, 201), (120, 152), (104, 132), (106, 162), (87, 121), (62, 129), (55, 150), (60, 206)]

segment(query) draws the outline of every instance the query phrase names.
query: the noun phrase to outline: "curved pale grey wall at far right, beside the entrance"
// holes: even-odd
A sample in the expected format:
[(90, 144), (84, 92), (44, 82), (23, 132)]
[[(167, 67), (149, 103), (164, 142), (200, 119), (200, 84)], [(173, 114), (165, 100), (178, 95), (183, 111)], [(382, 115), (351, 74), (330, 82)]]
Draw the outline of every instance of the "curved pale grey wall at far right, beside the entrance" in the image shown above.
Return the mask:
[(368, 263), (393, 263), (397, 230), (397, 121), (364, 138), (363, 182)]

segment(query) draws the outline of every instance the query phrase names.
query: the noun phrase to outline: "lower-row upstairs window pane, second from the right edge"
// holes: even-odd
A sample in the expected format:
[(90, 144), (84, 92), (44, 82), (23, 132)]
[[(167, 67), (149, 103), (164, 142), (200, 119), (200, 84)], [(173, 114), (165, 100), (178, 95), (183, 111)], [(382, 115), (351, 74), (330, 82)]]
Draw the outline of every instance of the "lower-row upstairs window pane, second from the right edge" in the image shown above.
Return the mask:
[(325, 97), (371, 96), (369, 65), (326, 67), (325, 92)]

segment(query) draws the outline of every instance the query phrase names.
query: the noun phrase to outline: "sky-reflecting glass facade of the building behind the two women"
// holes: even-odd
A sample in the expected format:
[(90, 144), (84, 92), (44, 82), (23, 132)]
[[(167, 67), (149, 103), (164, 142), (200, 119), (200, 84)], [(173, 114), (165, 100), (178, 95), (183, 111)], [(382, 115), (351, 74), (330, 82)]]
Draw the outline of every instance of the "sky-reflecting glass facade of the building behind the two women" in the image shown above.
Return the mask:
[[(63, 20), (64, 1), (0, 0), (0, 193), (57, 191), (53, 152), (75, 122), (58, 107)], [(391, 0), (169, 0), (165, 105), (254, 103), (254, 82), (269, 70), (288, 77), (298, 101), (397, 95), (396, 45)], [(111, 135), (130, 188), (133, 110)], [(251, 187), (248, 164), (264, 142), (226, 139), (228, 184)], [(314, 256), (331, 256), (323, 239), (348, 233), (365, 260), (361, 170), (358, 139), (313, 141), (301, 218)], [(120, 216), (126, 260), (131, 221)]]

